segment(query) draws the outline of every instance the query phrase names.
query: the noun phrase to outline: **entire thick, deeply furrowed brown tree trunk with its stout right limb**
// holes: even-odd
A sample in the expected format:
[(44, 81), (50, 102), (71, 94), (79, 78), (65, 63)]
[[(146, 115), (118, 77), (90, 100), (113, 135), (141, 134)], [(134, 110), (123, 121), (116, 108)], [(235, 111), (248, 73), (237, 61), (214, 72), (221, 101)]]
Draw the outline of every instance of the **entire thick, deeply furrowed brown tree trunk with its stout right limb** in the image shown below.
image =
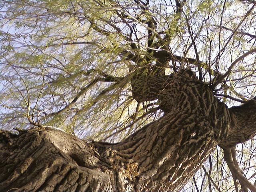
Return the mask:
[(189, 74), (137, 83), (134, 98), (158, 99), (165, 113), (120, 143), (86, 143), (52, 129), (0, 131), (0, 191), (174, 192), (216, 145), (256, 134), (254, 100), (228, 109)]

